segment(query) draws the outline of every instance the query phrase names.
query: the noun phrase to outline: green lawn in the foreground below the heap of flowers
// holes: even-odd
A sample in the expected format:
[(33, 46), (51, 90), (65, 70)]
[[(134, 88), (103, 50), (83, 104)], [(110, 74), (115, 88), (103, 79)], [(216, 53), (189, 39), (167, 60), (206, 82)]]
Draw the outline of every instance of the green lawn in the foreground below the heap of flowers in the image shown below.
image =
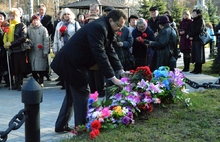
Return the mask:
[[(147, 120), (132, 127), (101, 131), (94, 142), (218, 142), (220, 141), (220, 97), (218, 90), (187, 94), (192, 106), (183, 103), (154, 106)], [(85, 133), (61, 142), (89, 142)]]

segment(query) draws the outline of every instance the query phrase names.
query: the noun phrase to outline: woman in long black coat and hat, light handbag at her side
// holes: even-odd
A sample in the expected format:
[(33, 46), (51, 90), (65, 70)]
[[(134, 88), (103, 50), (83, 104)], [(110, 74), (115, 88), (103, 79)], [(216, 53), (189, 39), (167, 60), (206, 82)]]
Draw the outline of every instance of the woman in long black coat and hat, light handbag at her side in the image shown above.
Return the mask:
[(186, 36), (192, 40), (192, 63), (195, 63), (194, 70), (190, 73), (200, 74), (202, 73), (202, 64), (205, 63), (205, 49), (204, 45), (201, 43), (199, 34), (205, 29), (205, 24), (200, 9), (194, 9), (192, 16), (193, 22)]

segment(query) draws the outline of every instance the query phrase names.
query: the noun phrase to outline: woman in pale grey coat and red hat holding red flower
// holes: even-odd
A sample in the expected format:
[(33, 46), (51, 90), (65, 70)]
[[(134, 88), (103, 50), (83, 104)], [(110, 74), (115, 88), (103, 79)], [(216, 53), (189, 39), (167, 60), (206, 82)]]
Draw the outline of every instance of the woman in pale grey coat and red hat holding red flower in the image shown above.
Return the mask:
[(41, 24), (40, 16), (33, 15), (32, 23), (27, 29), (28, 37), (33, 42), (33, 48), (28, 52), (33, 78), (44, 87), (43, 77), (47, 67), (47, 56), (49, 53), (49, 34)]

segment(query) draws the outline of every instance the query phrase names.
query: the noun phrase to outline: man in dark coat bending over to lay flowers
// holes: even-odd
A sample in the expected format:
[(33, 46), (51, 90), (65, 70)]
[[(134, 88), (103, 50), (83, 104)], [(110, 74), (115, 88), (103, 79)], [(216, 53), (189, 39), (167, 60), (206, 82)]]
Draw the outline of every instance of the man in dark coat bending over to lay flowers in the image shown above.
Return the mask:
[(120, 30), (127, 19), (122, 10), (112, 10), (106, 17), (83, 26), (74, 34), (55, 56), (51, 68), (66, 83), (64, 98), (55, 131), (68, 131), (68, 121), (74, 110), (75, 126), (86, 123), (87, 103), (90, 93), (88, 69), (97, 64), (103, 75), (121, 86), (115, 71), (125, 72), (112, 46), (114, 33)]

